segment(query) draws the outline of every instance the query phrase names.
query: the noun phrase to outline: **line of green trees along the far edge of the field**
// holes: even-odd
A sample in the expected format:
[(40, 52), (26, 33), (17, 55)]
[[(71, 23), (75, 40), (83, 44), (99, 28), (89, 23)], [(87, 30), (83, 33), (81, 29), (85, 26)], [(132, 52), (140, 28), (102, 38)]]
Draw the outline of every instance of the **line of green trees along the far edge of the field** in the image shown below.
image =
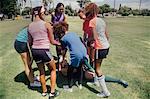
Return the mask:
[[(48, 2), (52, 3), (53, 0), (44, 0), (45, 6), (48, 6)], [(82, 8), (87, 2), (90, 0), (77, 0), (79, 6)], [(107, 16), (108, 14), (113, 15), (121, 15), (121, 16), (150, 16), (149, 9), (131, 9), (127, 6), (119, 6), (119, 9), (111, 8), (110, 5), (104, 4), (99, 6), (100, 12), (102, 16)], [(47, 13), (51, 13), (54, 11), (54, 8), (50, 8)], [(0, 13), (7, 15), (8, 18), (13, 18), (16, 15), (30, 15), (31, 7), (25, 7), (22, 12), (20, 12), (20, 6), (17, 5), (16, 0), (0, 0)], [(77, 10), (74, 10), (71, 5), (67, 5), (65, 7), (65, 13), (69, 16), (77, 16)]]

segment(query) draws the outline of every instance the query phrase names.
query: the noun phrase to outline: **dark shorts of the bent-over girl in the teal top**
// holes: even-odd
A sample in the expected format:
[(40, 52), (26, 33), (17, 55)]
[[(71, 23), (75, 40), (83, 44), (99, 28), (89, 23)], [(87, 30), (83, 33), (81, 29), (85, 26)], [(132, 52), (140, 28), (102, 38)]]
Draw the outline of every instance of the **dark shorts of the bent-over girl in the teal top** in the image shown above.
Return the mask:
[(18, 53), (28, 52), (28, 46), (26, 42), (15, 41), (14, 48)]

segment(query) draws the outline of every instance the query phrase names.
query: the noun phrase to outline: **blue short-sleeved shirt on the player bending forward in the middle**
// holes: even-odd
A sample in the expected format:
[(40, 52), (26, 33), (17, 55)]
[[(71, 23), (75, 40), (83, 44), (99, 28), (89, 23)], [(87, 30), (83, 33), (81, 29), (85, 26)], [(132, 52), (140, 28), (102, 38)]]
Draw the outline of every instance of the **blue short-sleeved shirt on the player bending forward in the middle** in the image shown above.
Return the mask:
[(70, 52), (71, 66), (78, 67), (81, 59), (87, 57), (87, 51), (76, 33), (69, 32), (62, 39), (62, 46), (67, 47)]

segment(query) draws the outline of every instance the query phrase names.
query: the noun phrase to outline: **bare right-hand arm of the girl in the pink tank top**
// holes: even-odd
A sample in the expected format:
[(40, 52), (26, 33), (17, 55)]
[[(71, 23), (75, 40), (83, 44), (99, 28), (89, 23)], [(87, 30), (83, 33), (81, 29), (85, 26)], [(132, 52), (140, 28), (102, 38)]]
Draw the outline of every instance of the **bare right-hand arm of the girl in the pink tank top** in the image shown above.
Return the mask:
[(50, 43), (53, 44), (53, 45), (60, 45), (59, 42), (54, 40), (53, 27), (51, 26), (51, 24), (50, 23), (46, 23), (45, 26), (47, 28), (48, 38), (49, 38)]

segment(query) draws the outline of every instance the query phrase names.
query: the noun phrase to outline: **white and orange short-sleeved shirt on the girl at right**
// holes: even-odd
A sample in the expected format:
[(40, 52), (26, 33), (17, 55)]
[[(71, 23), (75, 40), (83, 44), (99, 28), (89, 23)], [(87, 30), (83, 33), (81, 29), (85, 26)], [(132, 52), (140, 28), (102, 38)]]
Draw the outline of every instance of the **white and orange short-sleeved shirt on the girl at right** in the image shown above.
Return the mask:
[(94, 17), (90, 23), (89, 26), (92, 28), (96, 28), (97, 37), (94, 43), (95, 49), (108, 49), (109, 48), (109, 42), (106, 37), (106, 23), (101, 18)]

